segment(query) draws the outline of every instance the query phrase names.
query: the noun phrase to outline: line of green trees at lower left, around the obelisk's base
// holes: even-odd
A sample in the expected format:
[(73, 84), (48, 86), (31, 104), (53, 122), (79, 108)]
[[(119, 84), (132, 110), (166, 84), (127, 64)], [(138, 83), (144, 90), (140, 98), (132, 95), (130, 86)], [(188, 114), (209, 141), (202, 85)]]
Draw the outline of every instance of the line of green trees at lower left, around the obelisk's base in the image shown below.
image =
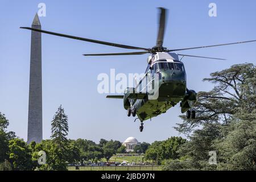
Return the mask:
[[(68, 135), (68, 116), (60, 106), (53, 117), (51, 139), (27, 144), (7, 132), (9, 121), (0, 113), (0, 170), (67, 170), (67, 164), (83, 165), (89, 160), (109, 160), (125, 147), (117, 140), (101, 139), (98, 144), (92, 140), (71, 140)], [(46, 152), (46, 164), (39, 165), (39, 151)]]

